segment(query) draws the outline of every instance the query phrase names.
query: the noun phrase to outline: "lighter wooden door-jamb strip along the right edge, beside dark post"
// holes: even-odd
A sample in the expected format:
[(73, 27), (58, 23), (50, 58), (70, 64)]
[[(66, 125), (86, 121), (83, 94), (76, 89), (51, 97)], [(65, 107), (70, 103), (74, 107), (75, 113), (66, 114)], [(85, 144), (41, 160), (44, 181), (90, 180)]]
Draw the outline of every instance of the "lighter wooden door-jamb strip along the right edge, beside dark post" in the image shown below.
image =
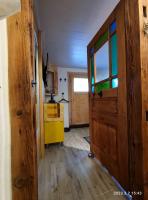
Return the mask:
[[(147, 16), (144, 17), (143, 6), (146, 7)], [(148, 37), (143, 32), (144, 23), (148, 23), (148, 0), (139, 1), (140, 19), (140, 55), (141, 55), (141, 88), (142, 88), (142, 142), (143, 142), (143, 181), (144, 199), (148, 199)]]

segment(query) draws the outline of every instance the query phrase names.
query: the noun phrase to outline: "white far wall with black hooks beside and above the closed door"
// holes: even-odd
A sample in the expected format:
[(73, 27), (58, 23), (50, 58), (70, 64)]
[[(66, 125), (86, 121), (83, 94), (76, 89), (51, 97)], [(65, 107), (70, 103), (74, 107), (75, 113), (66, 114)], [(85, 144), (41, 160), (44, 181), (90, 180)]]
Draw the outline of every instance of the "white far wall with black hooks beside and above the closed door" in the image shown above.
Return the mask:
[[(68, 72), (87, 72), (87, 69), (79, 68), (62, 68), (58, 67), (58, 96), (55, 97), (56, 101), (62, 98), (62, 93), (64, 92), (64, 98), (68, 100)], [(62, 81), (60, 82), (60, 78)], [(65, 82), (64, 79), (67, 79)], [(46, 98), (48, 101), (49, 98)], [(64, 127), (69, 128), (69, 108), (68, 104), (64, 104)]]

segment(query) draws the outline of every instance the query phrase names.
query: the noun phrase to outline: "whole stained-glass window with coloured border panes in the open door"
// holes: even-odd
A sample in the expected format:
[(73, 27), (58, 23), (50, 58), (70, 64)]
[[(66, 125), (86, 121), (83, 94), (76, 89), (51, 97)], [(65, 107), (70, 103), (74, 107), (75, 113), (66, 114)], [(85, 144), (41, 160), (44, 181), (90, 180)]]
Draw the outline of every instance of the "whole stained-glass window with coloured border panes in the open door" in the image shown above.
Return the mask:
[(93, 94), (118, 87), (118, 38), (116, 29), (116, 21), (113, 21), (104, 34), (98, 36), (90, 49), (90, 80)]

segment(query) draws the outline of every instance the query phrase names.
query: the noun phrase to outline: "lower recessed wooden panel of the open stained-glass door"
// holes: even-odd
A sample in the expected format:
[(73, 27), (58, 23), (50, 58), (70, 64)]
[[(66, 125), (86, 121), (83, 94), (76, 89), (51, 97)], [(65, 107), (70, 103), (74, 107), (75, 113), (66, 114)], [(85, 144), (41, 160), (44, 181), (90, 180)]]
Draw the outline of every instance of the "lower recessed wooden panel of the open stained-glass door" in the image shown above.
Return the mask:
[(117, 128), (93, 120), (92, 149), (104, 166), (118, 177)]

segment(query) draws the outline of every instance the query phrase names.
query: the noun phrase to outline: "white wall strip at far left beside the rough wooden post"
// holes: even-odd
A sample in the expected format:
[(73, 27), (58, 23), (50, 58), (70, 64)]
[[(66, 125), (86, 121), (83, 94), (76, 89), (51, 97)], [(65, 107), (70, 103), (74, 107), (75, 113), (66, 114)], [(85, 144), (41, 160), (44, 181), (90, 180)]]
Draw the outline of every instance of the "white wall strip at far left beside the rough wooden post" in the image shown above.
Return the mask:
[(0, 199), (11, 199), (11, 142), (6, 20), (0, 20)]

